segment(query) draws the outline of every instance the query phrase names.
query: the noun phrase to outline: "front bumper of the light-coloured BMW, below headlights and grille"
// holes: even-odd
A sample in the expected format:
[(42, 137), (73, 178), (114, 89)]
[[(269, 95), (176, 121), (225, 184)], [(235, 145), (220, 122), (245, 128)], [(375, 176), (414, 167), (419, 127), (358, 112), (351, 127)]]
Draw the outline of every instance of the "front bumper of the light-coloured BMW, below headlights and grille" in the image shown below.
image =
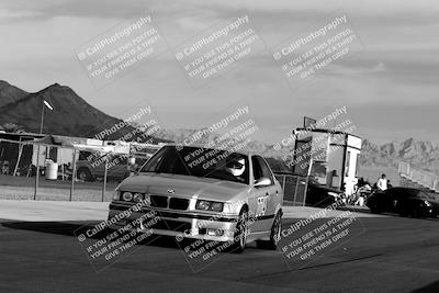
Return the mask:
[[(133, 204), (112, 202), (110, 204), (109, 226), (112, 229), (128, 228), (154, 235), (165, 235), (177, 239), (192, 238), (212, 241), (233, 241), (238, 216), (206, 214), (195, 211), (175, 211), (169, 209), (142, 207), (121, 219), (120, 215)], [(110, 221), (112, 219), (113, 221)], [(119, 219), (119, 221), (114, 221)]]

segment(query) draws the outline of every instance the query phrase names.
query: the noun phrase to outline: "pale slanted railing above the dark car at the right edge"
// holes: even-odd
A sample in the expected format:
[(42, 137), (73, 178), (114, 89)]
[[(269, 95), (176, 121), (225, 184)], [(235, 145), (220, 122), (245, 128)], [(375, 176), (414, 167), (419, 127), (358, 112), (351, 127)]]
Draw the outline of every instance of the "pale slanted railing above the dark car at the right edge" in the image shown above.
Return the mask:
[(412, 182), (439, 192), (439, 177), (437, 174), (420, 170), (404, 161), (398, 164), (398, 173)]

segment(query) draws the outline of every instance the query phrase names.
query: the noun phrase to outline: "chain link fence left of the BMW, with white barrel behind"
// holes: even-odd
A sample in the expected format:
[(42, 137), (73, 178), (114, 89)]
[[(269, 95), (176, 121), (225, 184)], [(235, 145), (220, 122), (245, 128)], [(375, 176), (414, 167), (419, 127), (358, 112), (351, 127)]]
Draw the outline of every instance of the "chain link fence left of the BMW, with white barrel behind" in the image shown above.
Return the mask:
[(156, 149), (128, 154), (0, 139), (0, 199), (111, 201)]

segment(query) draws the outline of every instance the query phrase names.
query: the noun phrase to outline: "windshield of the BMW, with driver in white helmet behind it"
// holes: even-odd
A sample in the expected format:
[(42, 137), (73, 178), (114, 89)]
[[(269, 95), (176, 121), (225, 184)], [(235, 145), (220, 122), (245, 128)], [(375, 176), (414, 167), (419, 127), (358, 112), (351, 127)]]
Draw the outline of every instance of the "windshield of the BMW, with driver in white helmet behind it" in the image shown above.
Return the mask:
[(215, 178), (249, 184), (247, 156), (203, 147), (177, 150), (175, 146), (165, 146), (140, 168), (142, 172)]

